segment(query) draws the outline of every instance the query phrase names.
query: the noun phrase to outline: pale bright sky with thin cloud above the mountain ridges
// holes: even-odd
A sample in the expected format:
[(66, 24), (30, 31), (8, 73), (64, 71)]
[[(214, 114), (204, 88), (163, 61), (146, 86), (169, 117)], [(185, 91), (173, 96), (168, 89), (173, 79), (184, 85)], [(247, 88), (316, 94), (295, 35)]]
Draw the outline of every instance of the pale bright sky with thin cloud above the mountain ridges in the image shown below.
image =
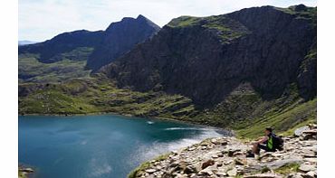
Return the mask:
[(75, 30), (105, 30), (123, 17), (146, 16), (159, 26), (180, 15), (226, 14), (246, 7), (316, 6), (316, 0), (19, 0), (20, 41), (43, 42)]

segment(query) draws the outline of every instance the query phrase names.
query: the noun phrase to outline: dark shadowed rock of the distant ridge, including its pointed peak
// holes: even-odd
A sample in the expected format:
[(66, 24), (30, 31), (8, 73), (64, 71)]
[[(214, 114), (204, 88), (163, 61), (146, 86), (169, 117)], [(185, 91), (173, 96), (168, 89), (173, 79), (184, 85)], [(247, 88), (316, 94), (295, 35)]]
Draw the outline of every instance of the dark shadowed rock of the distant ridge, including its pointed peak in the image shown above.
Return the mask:
[(62, 33), (45, 42), (19, 46), (19, 54), (40, 54), (39, 61), (52, 63), (62, 61), (63, 53), (74, 51), (72, 56), (67, 56), (70, 60), (87, 60), (88, 69), (98, 70), (159, 29), (143, 15), (136, 19), (125, 17), (120, 22), (110, 23), (106, 31)]

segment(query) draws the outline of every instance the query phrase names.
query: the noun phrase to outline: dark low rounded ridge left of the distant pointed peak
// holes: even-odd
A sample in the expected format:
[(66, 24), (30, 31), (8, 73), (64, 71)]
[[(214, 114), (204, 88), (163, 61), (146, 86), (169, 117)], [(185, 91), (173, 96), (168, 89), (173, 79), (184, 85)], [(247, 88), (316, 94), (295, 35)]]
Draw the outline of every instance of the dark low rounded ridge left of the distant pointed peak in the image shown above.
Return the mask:
[[(52, 63), (62, 61), (62, 53), (72, 52), (77, 48), (93, 48), (101, 42), (103, 32), (90, 32), (86, 30), (61, 33), (51, 40), (19, 46), (19, 54), (40, 54), (39, 61)], [(88, 52), (85, 52), (88, 53)], [(87, 56), (84, 56), (87, 58)], [(72, 60), (82, 60), (83, 56), (76, 55)]]

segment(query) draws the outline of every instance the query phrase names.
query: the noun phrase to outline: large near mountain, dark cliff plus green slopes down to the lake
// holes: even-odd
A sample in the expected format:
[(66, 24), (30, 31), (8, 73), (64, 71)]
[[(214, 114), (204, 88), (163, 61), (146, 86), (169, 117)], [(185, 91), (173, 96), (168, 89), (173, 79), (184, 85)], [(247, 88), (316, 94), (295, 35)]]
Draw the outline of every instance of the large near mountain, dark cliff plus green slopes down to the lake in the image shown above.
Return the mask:
[(178, 17), (90, 77), (22, 83), (19, 114), (172, 118), (253, 139), (266, 126), (292, 133), (316, 122), (316, 11), (262, 6)]

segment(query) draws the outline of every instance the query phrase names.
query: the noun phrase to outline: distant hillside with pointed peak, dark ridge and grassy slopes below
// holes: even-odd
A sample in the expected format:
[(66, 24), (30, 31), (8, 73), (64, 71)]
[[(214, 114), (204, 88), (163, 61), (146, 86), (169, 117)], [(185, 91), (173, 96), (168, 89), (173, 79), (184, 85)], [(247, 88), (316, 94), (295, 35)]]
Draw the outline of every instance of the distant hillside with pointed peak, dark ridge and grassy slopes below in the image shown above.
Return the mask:
[(110, 23), (106, 31), (61, 33), (45, 42), (19, 46), (19, 79), (53, 82), (88, 76), (158, 30), (158, 25), (139, 15)]

